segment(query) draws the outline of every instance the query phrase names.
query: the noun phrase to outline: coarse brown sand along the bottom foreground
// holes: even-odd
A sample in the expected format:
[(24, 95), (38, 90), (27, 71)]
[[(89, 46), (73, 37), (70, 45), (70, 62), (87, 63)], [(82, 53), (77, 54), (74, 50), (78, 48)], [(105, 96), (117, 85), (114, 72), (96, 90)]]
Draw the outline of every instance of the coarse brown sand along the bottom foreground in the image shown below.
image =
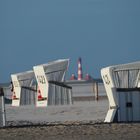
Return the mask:
[(1, 140), (139, 140), (140, 124), (72, 124), (0, 130)]

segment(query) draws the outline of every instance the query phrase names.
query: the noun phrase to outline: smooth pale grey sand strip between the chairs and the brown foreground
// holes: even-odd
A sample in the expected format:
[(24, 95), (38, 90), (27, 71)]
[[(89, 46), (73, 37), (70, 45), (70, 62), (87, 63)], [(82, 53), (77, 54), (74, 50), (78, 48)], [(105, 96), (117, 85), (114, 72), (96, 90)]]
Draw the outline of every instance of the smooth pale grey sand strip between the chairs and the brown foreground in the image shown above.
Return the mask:
[(103, 121), (108, 110), (108, 100), (79, 101), (73, 105), (12, 107), (6, 105), (7, 121), (65, 122), (65, 121)]

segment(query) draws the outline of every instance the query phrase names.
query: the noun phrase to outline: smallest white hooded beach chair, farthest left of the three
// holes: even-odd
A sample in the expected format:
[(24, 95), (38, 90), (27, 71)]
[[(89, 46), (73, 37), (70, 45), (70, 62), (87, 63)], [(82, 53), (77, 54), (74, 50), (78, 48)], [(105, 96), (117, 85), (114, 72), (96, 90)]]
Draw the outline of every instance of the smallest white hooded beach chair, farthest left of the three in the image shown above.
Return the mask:
[(37, 83), (33, 71), (11, 75), (12, 106), (34, 105), (36, 102)]

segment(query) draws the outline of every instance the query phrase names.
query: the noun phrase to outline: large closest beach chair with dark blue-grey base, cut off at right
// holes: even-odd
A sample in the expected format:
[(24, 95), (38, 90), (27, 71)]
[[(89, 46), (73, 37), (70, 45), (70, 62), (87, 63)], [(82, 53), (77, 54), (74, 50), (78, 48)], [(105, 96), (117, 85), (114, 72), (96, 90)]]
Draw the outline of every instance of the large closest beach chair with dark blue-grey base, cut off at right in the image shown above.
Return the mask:
[(109, 99), (105, 122), (140, 121), (140, 61), (101, 70)]

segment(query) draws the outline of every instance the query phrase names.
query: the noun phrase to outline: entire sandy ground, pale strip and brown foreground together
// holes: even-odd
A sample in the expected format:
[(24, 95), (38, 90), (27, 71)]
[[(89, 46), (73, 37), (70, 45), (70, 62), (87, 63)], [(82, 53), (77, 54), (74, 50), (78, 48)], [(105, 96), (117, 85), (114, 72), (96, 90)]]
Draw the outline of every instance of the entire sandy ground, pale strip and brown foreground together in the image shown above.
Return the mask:
[(140, 123), (103, 123), (107, 110), (107, 100), (47, 108), (6, 105), (7, 127), (0, 129), (0, 140), (140, 139)]

